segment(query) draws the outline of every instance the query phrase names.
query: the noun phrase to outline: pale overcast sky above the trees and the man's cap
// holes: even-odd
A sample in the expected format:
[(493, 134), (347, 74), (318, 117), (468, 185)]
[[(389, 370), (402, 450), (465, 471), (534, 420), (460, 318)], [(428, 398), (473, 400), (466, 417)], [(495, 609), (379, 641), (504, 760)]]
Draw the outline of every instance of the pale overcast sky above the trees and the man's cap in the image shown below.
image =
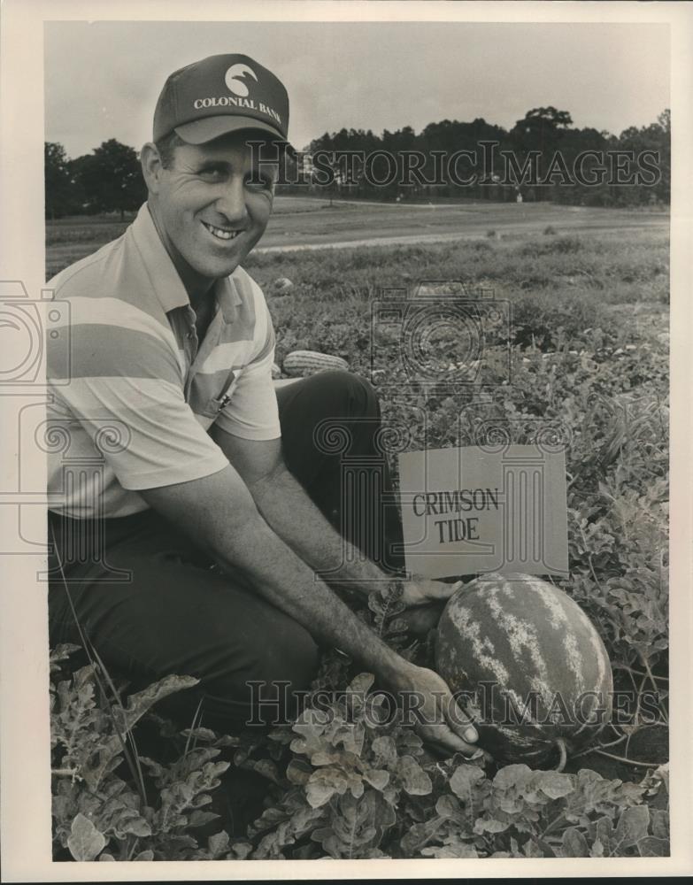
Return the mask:
[(139, 150), (168, 74), (219, 52), (280, 77), (299, 150), (343, 127), (511, 128), (547, 105), (619, 135), (669, 106), (666, 25), (58, 21), (44, 37), (45, 137), (71, 158), (109, 138)]

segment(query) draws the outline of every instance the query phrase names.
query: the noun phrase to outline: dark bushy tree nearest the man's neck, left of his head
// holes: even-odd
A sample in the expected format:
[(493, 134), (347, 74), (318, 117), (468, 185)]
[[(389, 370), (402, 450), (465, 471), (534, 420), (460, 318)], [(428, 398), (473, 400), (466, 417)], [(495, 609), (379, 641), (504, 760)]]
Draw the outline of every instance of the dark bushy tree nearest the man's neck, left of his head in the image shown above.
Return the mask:
[(115, 138), (74, 160), (73, 172), (92, 211), (118, 211), (122, 221), (146, 199), (137, 152)]

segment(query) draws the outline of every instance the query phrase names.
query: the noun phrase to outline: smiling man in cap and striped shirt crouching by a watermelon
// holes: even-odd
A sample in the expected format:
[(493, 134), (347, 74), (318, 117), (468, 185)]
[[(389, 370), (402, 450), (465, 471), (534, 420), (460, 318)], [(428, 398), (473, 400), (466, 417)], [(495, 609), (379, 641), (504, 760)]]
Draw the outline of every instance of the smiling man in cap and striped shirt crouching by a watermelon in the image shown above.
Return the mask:
[[(377, 455), (373, 389), (351, 373), (273, 388), (272, 320), (241, 263), (265, 231), (277, 168), (247, 142), (286, 144), (288, 118), (286, 90), (251, 58), (173, 73), (141, 153), (147, 203), (118, 240), (50, 281), (71, 310), (70, 365), (49, 358), (50, 427), (69, 437), (50, 458), (51, 643), (86, 636), (135, 687), (195, 675), (176, 713), (189, 723), (201, 698), (204, 724), (223, 730), (258, 713), (249, 682), (294, 712), (272, 686), (306, 689), (318, 645), (335, 646), (383, 688), (417, 693), (425, 740), (473, 754), (475, 730), (443, 680), (335, 593), (366, 596), (394, 571), (391, 559), (344, 557), (353, 547), (331, 524), (339, 461), (314, 435), (342, 423), (357, 455)], [(397, 540), (392, 512), (362, 549)], [(407, 581), (404, 602), (452, 590)]]

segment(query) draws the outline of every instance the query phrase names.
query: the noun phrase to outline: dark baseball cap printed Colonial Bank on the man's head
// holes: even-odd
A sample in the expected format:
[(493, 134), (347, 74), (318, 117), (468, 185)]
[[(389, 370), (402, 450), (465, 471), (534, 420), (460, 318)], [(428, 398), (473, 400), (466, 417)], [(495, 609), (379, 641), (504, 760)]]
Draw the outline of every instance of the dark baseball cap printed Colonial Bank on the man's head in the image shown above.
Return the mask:
[(286, 142), (289, 96), (266, 67), (244, 55), (213, 55), (174, 71), (158, 96), (154, 141), (175, 130), (203, 144), (240, 129), (259, 129)]

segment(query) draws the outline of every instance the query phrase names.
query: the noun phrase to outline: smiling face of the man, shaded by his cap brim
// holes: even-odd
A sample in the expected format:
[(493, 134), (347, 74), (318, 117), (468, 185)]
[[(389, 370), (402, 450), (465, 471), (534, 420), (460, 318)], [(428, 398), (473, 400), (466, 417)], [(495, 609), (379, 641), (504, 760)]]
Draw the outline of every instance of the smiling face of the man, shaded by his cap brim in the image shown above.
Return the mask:
[(180, 145), (169, 168), (159, 170), (159, 235), (183, 279), (227, 276), (265, 233), (277, 166), (266, 162), (270, 150), (251, 150), (249, 138), (241, 132)]

